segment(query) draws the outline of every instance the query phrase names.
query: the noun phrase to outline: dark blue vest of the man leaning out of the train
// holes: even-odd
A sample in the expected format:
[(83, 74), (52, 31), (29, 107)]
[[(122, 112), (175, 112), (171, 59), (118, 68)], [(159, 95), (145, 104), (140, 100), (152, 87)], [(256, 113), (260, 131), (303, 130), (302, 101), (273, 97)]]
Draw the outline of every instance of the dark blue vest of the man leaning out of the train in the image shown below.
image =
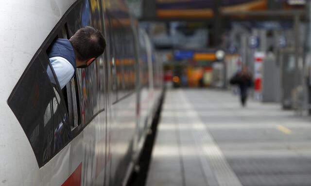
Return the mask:
[(49, 58), (62, 57), (70, 62), (76, 72), (76, 56), (73, 47), (68, 39), (56, 39), (49, 52)]

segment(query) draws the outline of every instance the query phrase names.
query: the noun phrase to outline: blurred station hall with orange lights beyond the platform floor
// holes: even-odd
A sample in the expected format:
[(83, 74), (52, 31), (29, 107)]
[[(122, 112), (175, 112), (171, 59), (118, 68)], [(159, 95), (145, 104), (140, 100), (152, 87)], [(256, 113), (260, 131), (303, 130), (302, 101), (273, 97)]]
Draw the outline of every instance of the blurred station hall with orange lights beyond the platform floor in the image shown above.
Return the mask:
[(127, 3), (164, 61), (167, 87), (227, 89), (246, 65), (255, 99), (311, 113), (310, 1)]

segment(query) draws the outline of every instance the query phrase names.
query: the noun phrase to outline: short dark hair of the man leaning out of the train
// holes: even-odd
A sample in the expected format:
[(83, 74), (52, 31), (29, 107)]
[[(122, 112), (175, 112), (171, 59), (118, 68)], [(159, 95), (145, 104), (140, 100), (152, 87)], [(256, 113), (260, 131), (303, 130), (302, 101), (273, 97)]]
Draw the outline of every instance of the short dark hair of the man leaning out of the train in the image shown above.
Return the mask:
[(103, 34), (88, 26), (75, 32), (69, 41), (75, 50), (76, 58), (81, 61), (99, 57), (106, 47)]

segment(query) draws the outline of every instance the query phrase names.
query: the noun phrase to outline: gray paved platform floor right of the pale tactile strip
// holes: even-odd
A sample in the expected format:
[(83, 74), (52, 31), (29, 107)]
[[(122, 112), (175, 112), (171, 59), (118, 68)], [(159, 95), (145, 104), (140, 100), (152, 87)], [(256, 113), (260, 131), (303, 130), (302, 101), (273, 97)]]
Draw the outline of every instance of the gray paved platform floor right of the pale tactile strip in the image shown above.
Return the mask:
[[(188, 91), (186, 95), (190, 102), (196, 95), (194, 101), (213, 105), (209, 113), (202, 107), (198, 113), (243, 186), (311, 186), (309, 117), (253, 101), (242, 109), (230, 94)], [(292, 133), (279, 131), (279, 124)]]

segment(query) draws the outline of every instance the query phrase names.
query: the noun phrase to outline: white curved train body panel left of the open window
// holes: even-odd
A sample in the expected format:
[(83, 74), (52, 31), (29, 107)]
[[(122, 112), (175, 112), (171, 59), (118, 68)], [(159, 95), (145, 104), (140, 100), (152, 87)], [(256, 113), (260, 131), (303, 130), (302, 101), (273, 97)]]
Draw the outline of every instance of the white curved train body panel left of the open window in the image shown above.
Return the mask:
[[(0, 88), (1, 185), (47, 184), (44, 183), (44, 177), (49, 177), (50, 174), (43, 176), (38, 168), (32, 147), (16, 116), (9, 108), (7, 99), (36, 50), (73, 2), (73, 0), (66, 2), (54, 0), (52, 3), (48, 0), (0, 2), (2, 20), (0, 56), (6, 61), (0, 63), (1, 69), (5, 69), (0, 74), (2, 79)], [(68, 154), (68, 149), (69, 147), (65, 148), (61, 156)], [(66, 162), (68, 160), (65, 159), (63, 165)], [(58, 178), (61, 182), (63, 178), (69, 176), (69, 169), (58, 170), (58, 174), (55, 172), (54, 176), (60, 176)]]

